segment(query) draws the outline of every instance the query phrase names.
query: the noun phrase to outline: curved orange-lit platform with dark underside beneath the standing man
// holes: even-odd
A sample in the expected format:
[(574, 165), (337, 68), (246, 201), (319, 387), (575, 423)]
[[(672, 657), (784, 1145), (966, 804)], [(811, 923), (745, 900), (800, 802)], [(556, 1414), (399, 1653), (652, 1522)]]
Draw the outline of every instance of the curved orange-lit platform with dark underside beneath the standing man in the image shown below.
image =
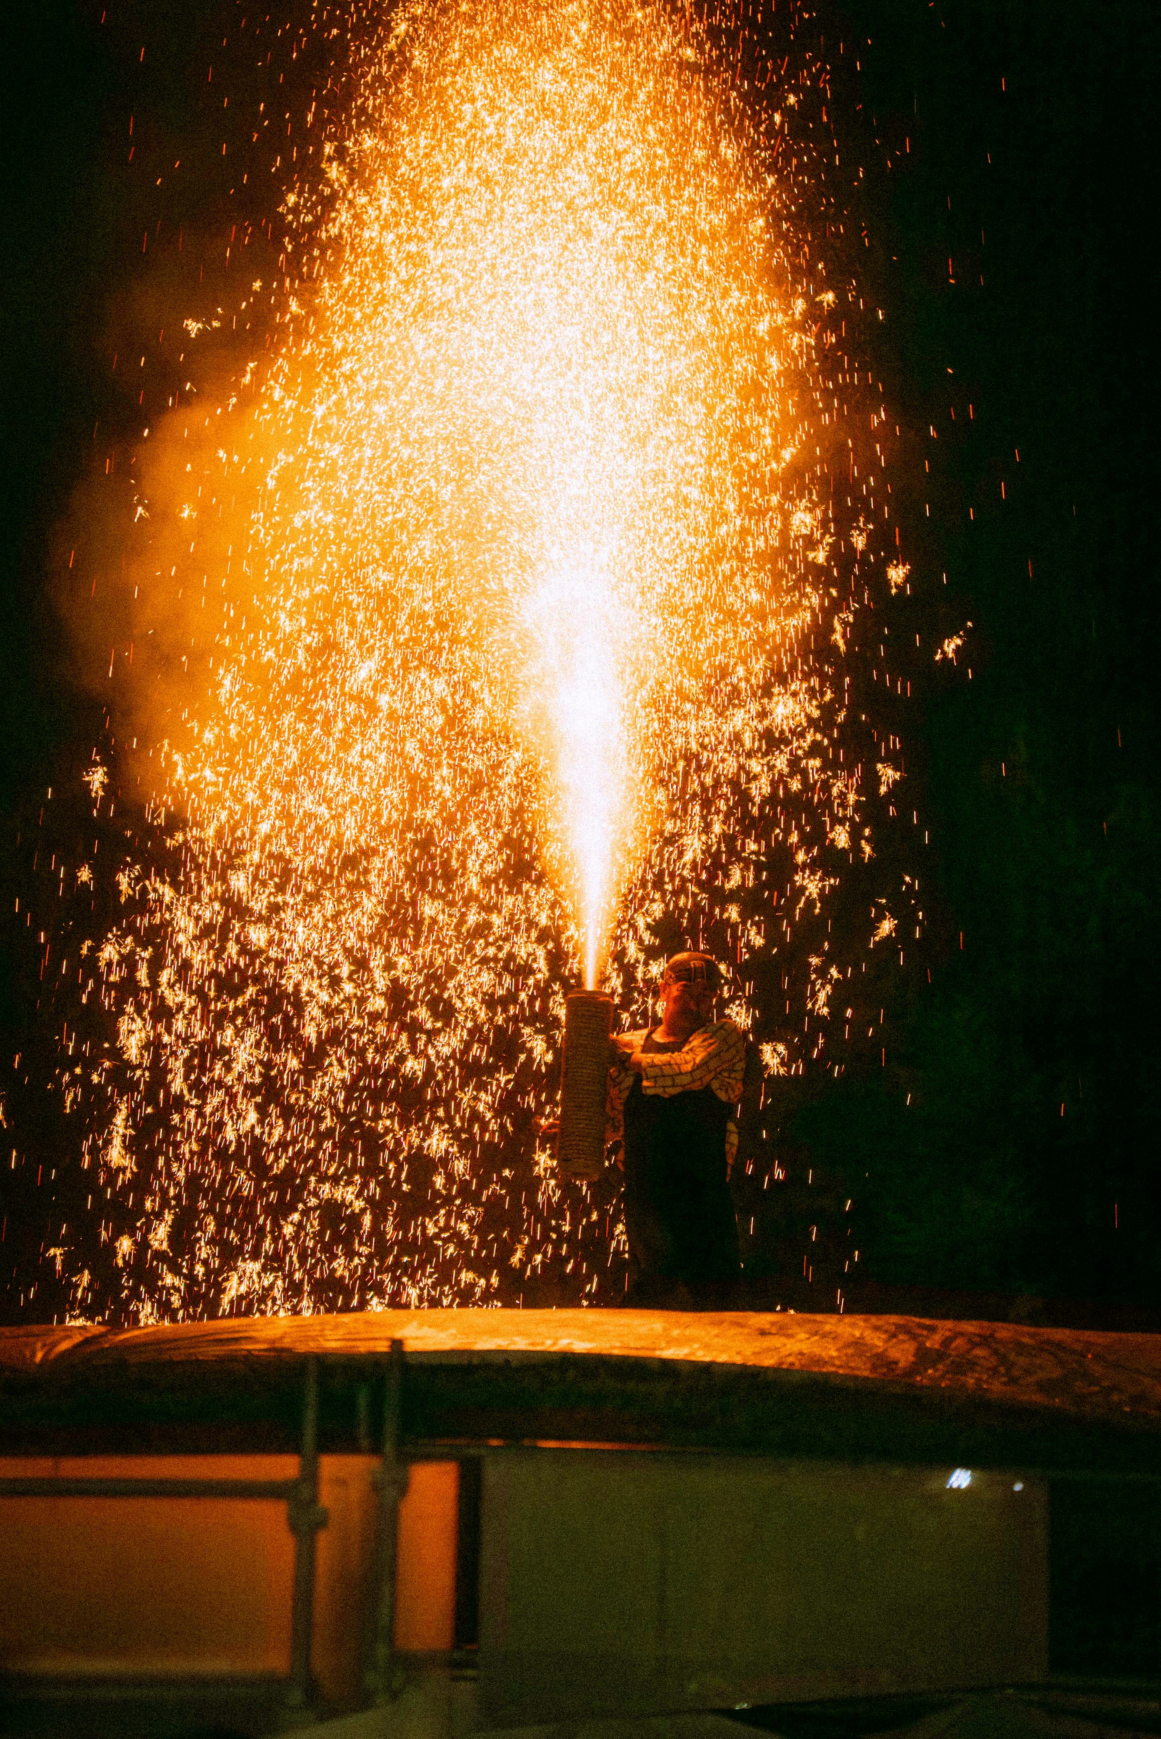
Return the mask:
[(353, 1447), (365, 1410), (356, 1391), (379, 1381), (391, 1339), (407, 1355), (410, 1442), (1161, 1466), (1161, 1336), (600, 1309), (0, 1330), (0, 1447), (45, 1449), (49, 1436), (52, 1452), (82, 1440), (113, 1447), (108, 1433), (120, 1443), (136, 1428), (155, 1433), (141, 1447), (174, 1449), (182, 1431), (200, 1431), (207, 1447), (257, 1433), (254, 1447), (289, 1449), (309, 1355), (325, 1362), (323, 1443)]

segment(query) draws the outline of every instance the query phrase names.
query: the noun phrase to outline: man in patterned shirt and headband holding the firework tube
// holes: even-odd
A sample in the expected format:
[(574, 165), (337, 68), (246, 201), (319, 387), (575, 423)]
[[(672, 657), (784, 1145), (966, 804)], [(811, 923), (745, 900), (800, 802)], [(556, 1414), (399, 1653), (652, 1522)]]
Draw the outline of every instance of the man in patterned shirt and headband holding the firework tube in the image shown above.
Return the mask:
[(726, 1308), (740, 1275), (730, 1170), (746, 1035), (713, 1017), (721, 981), (711, 955), (673, 955), (660, 1026), (612, 1040), (607, 1134), (624, 1167), (629, 1306)]

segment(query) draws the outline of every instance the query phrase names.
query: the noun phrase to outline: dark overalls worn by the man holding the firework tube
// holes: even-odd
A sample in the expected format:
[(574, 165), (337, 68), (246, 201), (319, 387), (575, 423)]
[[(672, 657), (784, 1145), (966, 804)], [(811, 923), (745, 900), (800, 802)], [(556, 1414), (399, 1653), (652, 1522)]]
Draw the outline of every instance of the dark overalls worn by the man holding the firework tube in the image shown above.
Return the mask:
[[(681, 1042), (648, 1033), (641, 1050), (681, 1050)], [(713, 1087), (662, 1097), (633, 1082), (624, 1103), (626, 1304), (664, 1303), (674, 1292), (726, 1303), (740, 1273), (725, 1163), (732, 1109)]]

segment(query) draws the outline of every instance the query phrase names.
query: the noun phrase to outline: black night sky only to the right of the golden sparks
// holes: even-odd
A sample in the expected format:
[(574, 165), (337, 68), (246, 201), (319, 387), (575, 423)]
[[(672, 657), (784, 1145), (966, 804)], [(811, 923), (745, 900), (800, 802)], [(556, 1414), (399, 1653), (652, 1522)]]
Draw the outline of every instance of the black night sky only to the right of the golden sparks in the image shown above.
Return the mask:
[(979, 659), (912, 725), (945, 949), (930, 998), (899, 1010), (918, 1115), (883, 1083), (843, 1123), (878, 1183), (871, 1259), (885, 1278), (1154, 1299), (1158, 442), (1138, 287), (1158, 19), (852, 14), (881, 136), (911, 137), (869, 224), (885, 377), (932, 466), (932, 518), (909, 496), (904, 541), (947, 574)]

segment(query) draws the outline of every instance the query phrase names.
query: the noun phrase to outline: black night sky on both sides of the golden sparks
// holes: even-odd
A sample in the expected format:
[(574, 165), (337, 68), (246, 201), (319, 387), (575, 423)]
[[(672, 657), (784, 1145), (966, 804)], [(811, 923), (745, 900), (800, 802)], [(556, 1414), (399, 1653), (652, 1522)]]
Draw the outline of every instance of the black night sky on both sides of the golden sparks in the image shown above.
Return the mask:
[[(233, 169), (214, 155), (228, 123), (203, 80), (233, 7), (111, 0), (101, 24), (103, 10), (40, 3), (7, 9), (3, 23), (10, 1122), (33, 1115), (17, 1075), (43, 1035), (36, 937), (7, 887), (28, 889), (43, 791), (76, 776), (103, 727), (70, 676), (50, 602), (54, 527), (94, 426), (139, 424), (123, 369), (109, 372), (118, 337), (174, 285), (198, 313), (196, 296), (209, 303), (216, 285), (198, 285), (188, 259), (221, 254), (236, 221), (276, 205), (254, 186), (249, 205), (231, 198)], [(885, 989), (886, 1068), (803, 1094), (787, 1113), (787, 1139), (850, 1189), (867, 1273), (883, 1283), (1149, 1304), (1161, 1278), (1147, 266), (1159, 31), (1149, 0), (859, 0), (822, 5), (808, 31), (834, 70), (843, 162), (864, 165), (848, 230), (866, 226), (852, 263), (885, 310), (871, 362), (904, 430), (902, 546), (916, 574), (947, 576), (916, 610), (928, 631), (933, 616), (949, 631), (973, 623), (972, 680), (940, 668), (904, 720), (932, 838), (932, 983)], [(184, 224), (193, 252), (165, 266), (146, 247), (143, 264), (153, 167), (179, 157), (165, 221)], [(902, 487), (907, 476), (921, 485)], [(7, 1170), (10, 1144), (5, 1320), (21, 1315), (45, 1223), (31, 1177)]]

